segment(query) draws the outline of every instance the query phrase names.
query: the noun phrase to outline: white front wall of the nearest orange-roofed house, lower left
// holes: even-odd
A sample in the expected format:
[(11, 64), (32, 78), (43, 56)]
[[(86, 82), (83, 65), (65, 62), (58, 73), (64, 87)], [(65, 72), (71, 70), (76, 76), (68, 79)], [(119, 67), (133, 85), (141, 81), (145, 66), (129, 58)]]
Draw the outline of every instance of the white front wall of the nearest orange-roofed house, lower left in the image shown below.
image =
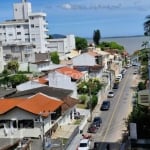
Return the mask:
[[(40, 116), (33, 115), (19, 108), (12, 109), (6, 114), (0, 115), (0, 120), (34, 120)], [(42, 136), (42, 120), (39, 119), (34, 122), (34, 128), (10, 128), (6, 126), (7, 136), (4, 134), (3, 129), (0, 129), (1, 138), (22, 138), (22, 137), (36, 137)], [(45, 121), (44, 132), (47, 132), (51, 127), (51, 118), (48, 117)], [(13, 131), (13, 132), (12, 132)]]

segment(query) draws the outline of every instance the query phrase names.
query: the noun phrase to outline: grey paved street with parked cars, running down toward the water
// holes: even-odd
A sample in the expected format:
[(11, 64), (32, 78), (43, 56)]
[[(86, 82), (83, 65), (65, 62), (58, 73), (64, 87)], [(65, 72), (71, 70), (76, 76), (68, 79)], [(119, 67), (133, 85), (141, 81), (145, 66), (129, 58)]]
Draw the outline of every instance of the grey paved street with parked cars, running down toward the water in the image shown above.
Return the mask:
[[(103, 100), (109, 99), (111, 102), (108, 111), (101, 111), (100, 105), (94, 110), (93, 116), (101, 116), (102, 125), (96, 134), (92, 134), (92, 147), (94, 142), (100, 142), (99, 150), (105, 150), (107, 143), (112, 145), (121, 143), (122, 134), (126, 130), (125, 120), (132, 110), (132, 86), (136, 78), (133, 72), (132, 67), (127, 70), (125, 77), (119, 83), (119, 89), (115, 90), (113, 98), (107, 98), (107, 94), (105, 95)], [(84, 133), (87, 132), (88, 125), (89, 123), (84, 128)], [(75, 150), (81, 138), (81, 135), (77, 135), (67, 150)], [(116, 147), (114, 149), (117, 150)]]

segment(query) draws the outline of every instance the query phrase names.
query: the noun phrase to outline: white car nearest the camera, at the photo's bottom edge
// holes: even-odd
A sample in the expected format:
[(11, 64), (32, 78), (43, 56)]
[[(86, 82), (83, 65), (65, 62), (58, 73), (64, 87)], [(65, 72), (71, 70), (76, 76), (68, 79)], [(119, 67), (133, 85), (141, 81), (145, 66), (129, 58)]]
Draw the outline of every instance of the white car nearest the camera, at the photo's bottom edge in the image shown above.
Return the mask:
[(89, 150), (90, 149), (90, 140), (89, 139), (82, 139), (77, 150)]

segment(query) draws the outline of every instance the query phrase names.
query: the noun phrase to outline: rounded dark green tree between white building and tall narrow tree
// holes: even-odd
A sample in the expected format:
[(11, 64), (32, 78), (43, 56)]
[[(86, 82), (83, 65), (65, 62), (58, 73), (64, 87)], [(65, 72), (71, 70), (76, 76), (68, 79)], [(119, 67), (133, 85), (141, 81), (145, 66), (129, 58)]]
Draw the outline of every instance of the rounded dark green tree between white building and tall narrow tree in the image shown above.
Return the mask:
[(76, 49), (77, 50), (83, 51), (88, 47), (88, 42), (85, 38), (76, 37), (75, 42), (76, 42)]

